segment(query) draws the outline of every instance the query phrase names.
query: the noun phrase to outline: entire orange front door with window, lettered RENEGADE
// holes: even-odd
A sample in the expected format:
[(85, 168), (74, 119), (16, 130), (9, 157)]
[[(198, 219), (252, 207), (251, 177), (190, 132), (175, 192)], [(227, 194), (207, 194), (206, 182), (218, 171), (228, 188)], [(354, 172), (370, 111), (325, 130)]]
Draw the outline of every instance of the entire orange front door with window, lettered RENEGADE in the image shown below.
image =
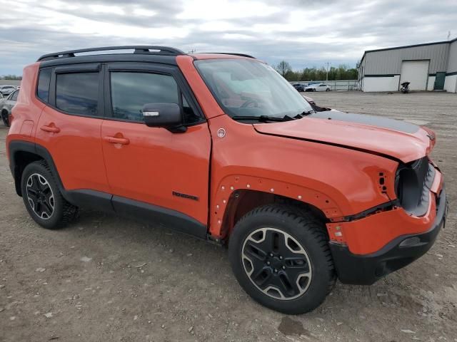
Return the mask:
[[(111, 63), (105, 84), (111, 118), (102, 123), (101, 138), (115, 209), (123, 211), (122, 204), (165, 209), (206, 226), (211, 136), (179, 69)], [(179, 104), (186, 132), (146, 126), (141, 113), (146, 103)]]

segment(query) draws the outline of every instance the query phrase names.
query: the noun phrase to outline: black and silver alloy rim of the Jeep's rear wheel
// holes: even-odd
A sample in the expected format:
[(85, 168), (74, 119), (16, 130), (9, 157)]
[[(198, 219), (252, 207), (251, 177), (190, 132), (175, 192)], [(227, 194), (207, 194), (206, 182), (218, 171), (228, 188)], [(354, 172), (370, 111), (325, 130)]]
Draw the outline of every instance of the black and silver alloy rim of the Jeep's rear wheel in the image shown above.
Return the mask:
[(49, 219), (54, 213), (54, 193), (49, 182), (39, 173), (27, 179), (27, 199), (34, 213), (41, 219)]

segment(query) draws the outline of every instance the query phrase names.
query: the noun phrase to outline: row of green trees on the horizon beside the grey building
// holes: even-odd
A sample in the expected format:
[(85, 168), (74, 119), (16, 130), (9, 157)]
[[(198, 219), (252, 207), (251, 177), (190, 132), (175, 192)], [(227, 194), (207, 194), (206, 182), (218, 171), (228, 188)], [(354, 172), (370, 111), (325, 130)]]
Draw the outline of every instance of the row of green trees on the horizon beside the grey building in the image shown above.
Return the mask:
[[(326, 68), (304, 68), (301, 71), (293, 71), (291, 65), (286, 61), (281, 61), (275, 67), (287, 81), (323, 81), (327, 77)], [(358, 70), (351, 68), (346, 64), (341, 64), (338, 67), (332, 66), (328, 69), (328, 81), (344, 81), (356, 80), (358, 78)]]

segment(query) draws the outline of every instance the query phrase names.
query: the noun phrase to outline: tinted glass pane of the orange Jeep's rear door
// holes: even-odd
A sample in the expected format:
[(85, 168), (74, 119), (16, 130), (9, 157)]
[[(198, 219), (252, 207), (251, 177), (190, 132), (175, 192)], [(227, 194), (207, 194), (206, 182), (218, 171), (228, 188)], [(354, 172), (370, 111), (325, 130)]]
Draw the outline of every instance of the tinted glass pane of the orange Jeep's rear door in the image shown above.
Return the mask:
[(56, 107), (72, 114), (98, 115), (99, 73), (56, 74)]

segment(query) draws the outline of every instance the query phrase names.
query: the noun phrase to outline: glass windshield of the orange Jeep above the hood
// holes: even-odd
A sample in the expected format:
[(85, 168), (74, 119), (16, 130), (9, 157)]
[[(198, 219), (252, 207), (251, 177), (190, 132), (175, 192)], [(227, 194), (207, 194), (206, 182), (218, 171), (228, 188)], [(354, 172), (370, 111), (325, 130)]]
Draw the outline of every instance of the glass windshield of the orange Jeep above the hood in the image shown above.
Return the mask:
[(271, 66), (246, 59), (195, 61), (206, 86), (231, 117), (283, 118), (313, 110)]

